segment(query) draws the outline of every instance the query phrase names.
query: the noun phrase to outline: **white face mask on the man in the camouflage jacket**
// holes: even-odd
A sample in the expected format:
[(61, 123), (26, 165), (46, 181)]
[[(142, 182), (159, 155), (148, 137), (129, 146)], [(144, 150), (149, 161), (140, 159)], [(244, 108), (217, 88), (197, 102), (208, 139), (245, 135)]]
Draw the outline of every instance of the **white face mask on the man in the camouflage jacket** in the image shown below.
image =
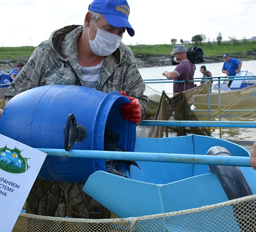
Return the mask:
[[(94, 25), (96, 26), (95, 22), (94, 22)], [(89, 28), (88, 28), (88, 36), (89, 36)], [(106, 32), (97, 28), (95, 39), (90, 40), (90, 36), (89, 36), (89, 44), (91, 46), (92, 51), (96, 55), (104, 57), (115, 52), (115, 50), (118, 48), (118, 46), (121, 43), (121, 39), (122, 37), (119, 35)]]

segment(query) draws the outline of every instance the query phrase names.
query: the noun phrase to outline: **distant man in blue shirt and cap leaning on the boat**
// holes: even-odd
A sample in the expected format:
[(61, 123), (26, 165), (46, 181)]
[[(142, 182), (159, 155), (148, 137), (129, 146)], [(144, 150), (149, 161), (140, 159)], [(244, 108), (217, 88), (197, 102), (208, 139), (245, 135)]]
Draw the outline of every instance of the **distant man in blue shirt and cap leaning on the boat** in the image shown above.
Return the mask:
[[(229, 53), (224, 53), (223, 58), (225, 60), (222, 72), (226, 73), (227, 76), (236, 76), (236, 73), (240, 72), (242, 67), (242, 62), (236, 58), (230, 58)], [(228, 86), (232, 81), (229, 81)]]

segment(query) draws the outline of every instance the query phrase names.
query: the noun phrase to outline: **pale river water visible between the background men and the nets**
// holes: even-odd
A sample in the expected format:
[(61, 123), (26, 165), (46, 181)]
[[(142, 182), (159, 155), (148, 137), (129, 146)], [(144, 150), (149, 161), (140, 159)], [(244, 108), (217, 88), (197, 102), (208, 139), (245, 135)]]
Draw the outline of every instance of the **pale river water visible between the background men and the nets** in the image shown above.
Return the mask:
[[(212, 73), (213, 77), (220, 76), (222, 72), (222, 65), (223, 63), (211, 63), (211, 64), (204, 64), (208, 71)], [(195, 76), (201, 78), (202, 73), (200, 72), (200, 67), (202, 64), (195, 64)], [(147, 79), (163, 79), (167, 80), (167, 78), (162, 76), (163, 71), (173, 71), (175, 66), (161, 66), (161, 67), (151, 67), (151, 68), (140, 68), (141, 76), (144, 80)], [(252, 61), (243, 61), (242, 71), (249, 71), (253, 75), (256, 75), (256, 60)], [(195, 84), (200, 84), (200, 82)], [(151, 89), (152, 88), (152, 89)], [(173, 91), (173, 84), (172, 83), (161, 83), (161, 84), (147, 84), (146, 86), (146, 95), (154, 94), (155, 91), (158, 94), (162, 94), (162, 91), (165, 91), (167, 94), (172, 94)], [(256, 100), (254, 103), (256, 104)], [(256, 122), (256, 119), (253, 121)], [(223, 139), (228, 140), (243, 140), (243, 141), (256, 141), (256, 129), (255, 128), (226, 128), (222, 129), (221, 132), (219, 129), (213, 129), (211, 131), (214, 137), (222, 137)], [(220, 135), (221, 133), (221, 135)]]

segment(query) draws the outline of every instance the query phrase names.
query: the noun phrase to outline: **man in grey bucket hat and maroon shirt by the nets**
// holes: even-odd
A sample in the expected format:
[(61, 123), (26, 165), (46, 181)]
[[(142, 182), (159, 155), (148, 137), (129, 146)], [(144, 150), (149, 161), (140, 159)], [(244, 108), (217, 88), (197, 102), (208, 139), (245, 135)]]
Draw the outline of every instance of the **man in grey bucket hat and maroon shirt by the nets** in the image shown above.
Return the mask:
[[(174, 56), (175, 62), (179, 64), (175, 67), (174, 71), (164, 71), (162, 73), (162, 75), (167, 77), (168, 79), (174, 79), (175, 81), (184, 81), (182, 83), (173, 83), (173, 93), (180, 93), (193, 89), (195, 87), (194, 82), (188, 82), (194, 80), (195, 65), (188, 60), (186, 51), (187, 49), (184, 45), (174, 45), (173, 52), (171, 54)], [(193, 104), (193, 94), (187, 94), (186, 100), (189, 104)]]

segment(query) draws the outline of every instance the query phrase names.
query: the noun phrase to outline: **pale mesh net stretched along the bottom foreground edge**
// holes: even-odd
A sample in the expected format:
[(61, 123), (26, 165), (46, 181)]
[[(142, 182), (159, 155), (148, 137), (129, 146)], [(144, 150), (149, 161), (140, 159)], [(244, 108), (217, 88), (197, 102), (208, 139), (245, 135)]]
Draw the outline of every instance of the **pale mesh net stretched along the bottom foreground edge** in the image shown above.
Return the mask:
[[(113, 215), (115, 216), (115, 215)], [(20, 213), (13, 232), (252, 232), (256, 195), (171, 213), (113, 219), (71, 219)]]

